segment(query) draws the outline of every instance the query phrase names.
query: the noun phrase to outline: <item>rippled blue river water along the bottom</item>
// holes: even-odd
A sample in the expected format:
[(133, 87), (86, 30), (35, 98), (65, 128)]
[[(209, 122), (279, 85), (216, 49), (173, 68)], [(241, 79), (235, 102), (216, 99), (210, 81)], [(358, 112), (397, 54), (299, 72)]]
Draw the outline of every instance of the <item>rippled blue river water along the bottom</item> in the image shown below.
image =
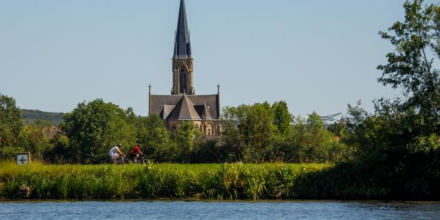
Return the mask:
[(0, 202), (0, 219), (440, 219), (440, 203), (381, 201)]

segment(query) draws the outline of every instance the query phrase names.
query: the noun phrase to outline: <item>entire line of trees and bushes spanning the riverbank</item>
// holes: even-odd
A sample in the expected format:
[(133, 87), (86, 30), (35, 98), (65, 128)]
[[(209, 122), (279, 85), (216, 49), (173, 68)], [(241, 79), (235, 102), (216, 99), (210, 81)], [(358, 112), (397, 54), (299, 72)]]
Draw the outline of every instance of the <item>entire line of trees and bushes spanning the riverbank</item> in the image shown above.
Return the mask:
[(292, 117), (283, 101), (243, 104), (223, 109), (223, 137), (205, 139), (191, 124), (169, 133), (155, 116), (94, 100), (67, 113), (49, 140), (45, 123), (24, 126), (14, 100), (1, 96), (0, 154), (96, 163), (118, 142), (124, 151), (140, 142), (156, 162), (334, 162), (298, 177), (309, 199), (439, 199), (440, 7), (422, 3), (406, 1), (404, 21), (380, 32), (394, 50), (378, 81), (401, 96), (375, 100), (373, 113), (358, 102), (325, 128), (316, 113)]

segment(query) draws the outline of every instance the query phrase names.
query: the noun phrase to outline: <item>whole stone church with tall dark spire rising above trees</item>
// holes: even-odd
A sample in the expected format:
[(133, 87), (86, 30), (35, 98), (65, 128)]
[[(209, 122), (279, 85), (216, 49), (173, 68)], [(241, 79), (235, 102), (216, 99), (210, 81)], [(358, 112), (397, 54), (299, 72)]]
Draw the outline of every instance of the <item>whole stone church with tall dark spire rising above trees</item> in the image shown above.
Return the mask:
[(181, 0), (174, 42), (171, 94), (153, 95), (149, 86), (148, 114), (162, 118), (170, 131), (189, 122), (206, 136), (221, 135), (220, 86), (217, 85), (217, 94), (196, 95), (193, 62), (185, 1)]

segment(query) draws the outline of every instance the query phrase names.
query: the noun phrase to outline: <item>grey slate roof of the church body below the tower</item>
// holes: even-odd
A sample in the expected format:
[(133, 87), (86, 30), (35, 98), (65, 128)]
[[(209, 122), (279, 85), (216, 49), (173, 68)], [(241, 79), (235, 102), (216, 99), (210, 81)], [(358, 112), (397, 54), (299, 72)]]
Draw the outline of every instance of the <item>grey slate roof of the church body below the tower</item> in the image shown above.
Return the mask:
[(151, 95), (150, 113), (163, 120), (216, 120), (217, 95)]

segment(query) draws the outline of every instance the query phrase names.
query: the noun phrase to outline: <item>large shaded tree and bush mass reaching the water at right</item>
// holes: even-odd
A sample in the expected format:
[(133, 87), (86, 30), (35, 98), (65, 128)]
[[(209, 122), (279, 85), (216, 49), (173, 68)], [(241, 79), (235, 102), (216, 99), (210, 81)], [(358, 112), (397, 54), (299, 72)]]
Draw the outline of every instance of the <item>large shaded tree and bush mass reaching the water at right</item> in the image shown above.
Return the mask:
[[(375, 112), (349, 105), (342, 142), (353, 160), (304, 178), (307, 196), (318, 198), (438, 199), (440, 190), (439, 8), (404, 3), (405, 21), (380, 32), (395, 50), (379, 82), (404, 96), (375, 100)], [(434, 51), (431, 54), (430, 51)], [(430, 57), (431, 56), (431, 57)], [(329, 187), (331, 182), (331, 187)], [(314, 187), (310, 187), (314, 186)], [(324, 188), (325, 190), (316, 190)]]

